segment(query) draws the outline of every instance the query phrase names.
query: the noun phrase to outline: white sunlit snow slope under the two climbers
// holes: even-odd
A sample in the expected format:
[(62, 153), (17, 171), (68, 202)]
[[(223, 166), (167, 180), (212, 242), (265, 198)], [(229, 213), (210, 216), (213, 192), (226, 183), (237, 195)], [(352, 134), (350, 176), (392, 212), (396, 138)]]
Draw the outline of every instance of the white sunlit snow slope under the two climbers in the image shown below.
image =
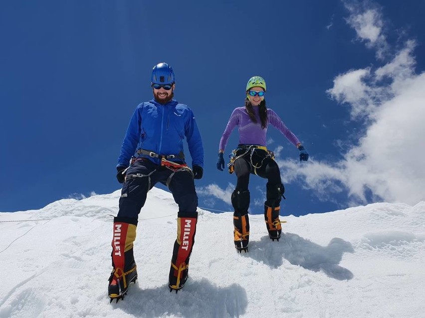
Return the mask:
[(425, 317), (425, 202), (284, 216), (279, 242), (250, 215), (242, 254), (232, 213), (199, 210), (190, 278), (176, 294), (167, 283), (178, 207), (153, 188), (139, 214), (139, 279), (109, 304), (119, 196), (0, 213), (0, 318)]

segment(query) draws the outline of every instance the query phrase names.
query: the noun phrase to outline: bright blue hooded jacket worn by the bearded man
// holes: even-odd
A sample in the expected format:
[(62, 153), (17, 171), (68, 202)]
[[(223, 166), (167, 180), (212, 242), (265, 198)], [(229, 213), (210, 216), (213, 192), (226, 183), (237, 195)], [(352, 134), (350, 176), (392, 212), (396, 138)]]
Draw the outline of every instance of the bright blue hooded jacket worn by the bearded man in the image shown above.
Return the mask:
[[(132, 156), (145, 157), (160, 163), (161, 159), (137, 154), (138, 149), (159, 155), (183, 154), (185, 137), (192, 157), (192, 166), (204, 167), (204, 147), (191, 108), (175, 100), (165, 105), (154, 99), (144, 102), (136, 107), (130, 119), (117, 167), (128, 167)], [(168, 160), (183, 161), (179, 157)]]

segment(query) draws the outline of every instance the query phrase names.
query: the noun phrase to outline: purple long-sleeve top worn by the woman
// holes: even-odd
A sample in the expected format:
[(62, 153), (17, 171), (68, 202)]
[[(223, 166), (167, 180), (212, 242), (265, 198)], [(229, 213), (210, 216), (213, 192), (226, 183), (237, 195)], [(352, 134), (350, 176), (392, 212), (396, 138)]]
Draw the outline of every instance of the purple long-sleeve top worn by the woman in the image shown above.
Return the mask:
[(221, 136), (220, 144), (218, 146), (219, 150), (225, 150), (227, 140), (229, 139), (233, 128), (236, 126), (239, 131), (239, 144), (267, 146), (266, 134), (268, 124), (271, 124), (279, 130), (294, 146), (297, 146), (297, 144), (300, 143), (297, 136), (295, 136), (293, 132), (286, 127), (283, 121), (272, 109), (267, 109), (268, 120), (265, 128), (261, 127), (259, 107), (254, 106), (253, 109), (257, 122), (253, 122), (251, 120), (245, 107), (237, 107), (233, 110), (229, 121), (227, 122), (227, 126)]

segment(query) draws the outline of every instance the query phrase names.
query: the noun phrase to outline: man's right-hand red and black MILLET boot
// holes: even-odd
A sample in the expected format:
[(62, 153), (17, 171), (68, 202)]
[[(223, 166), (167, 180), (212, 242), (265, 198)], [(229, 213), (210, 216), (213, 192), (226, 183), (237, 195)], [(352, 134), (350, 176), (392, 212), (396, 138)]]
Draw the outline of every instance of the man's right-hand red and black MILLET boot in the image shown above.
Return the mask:
[(189, 260), (195, 243), (198, 212), (179, 212), (177, 214), (177, 239), (174, 242), (171, 258), (168, 287), (176, 293), (185, 286), (188, 280)]

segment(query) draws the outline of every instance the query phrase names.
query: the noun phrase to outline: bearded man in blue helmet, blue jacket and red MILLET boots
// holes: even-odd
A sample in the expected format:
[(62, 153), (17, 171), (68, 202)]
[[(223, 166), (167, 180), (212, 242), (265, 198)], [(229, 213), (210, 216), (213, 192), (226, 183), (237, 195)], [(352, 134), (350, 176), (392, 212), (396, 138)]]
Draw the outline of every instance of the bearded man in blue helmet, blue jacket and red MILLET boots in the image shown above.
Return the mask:
[[(157, 182), (170, 189), (179, 206), (177, 239), (168, 281), (170, 291), (177, 293), (188, 278), (198, 219), (194, 178), (201, 179), (203, 175), (204, 147), (192, 110), (173, 99), (176, 84), (171, 66), (167, 63), (156, 65), (151, 85), (154, 99), (136, 107), (118, 158), (117, 179), (124, 185), (118, 215), (114, 217), (113, 270), (108, 287), (111, 302), (124, 298), (129, 283), (137, 279), (133, 242), (138, 214), (148, 191)], [(183, 153), (185, 137), (192, 170)]]

